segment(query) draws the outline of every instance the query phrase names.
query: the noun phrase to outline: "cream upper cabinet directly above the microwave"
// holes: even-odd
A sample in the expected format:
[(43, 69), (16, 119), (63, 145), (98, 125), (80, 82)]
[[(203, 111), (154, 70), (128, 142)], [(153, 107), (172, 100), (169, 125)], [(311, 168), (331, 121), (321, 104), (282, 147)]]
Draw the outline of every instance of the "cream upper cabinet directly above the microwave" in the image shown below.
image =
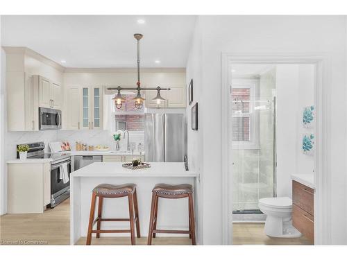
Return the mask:
[(48, 78), (37, 77), (39, 85), (39, 107), (61, 109), (62, 87), (59, 83), (53, 83)]

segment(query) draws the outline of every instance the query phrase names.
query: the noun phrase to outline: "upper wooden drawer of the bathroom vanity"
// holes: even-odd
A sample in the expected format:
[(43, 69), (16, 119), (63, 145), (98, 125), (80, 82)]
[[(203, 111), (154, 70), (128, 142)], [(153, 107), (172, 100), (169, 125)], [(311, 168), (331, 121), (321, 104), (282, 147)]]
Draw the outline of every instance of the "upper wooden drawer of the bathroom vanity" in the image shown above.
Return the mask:
[(314, 216), (314, 190), (293, 181), (293, 204)]

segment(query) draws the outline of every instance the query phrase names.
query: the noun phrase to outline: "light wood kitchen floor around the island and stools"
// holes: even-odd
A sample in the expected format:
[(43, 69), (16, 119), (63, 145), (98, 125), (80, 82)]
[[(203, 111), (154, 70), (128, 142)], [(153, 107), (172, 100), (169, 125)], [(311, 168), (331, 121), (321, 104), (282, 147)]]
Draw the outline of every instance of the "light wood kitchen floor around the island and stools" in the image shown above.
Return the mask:
[[(69, 245), (69, 200), (44, 214), (7, 214), (0, 217), (0, 245)], [(138, 245), (146, 245), (147, 238), (136, 239)], [(187, 237), (158, 237), (153, 245), (190, 245)], [(77, 242), (85, 245), (85, 237)], [(130, 245), (130, 237), (101, 237), (92, 245)]]

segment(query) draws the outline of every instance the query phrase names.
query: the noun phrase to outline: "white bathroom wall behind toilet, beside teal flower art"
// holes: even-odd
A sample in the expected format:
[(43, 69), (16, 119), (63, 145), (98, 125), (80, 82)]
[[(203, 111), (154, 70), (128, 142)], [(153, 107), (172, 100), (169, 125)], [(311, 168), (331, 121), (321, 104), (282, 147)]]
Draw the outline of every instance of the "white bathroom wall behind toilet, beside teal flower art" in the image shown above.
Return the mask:
[(277, 191), (291, 198), (291, 174), (313, 173), (314, 157), (304, 155), (303, 107), (314, 104), (314, 65), (276, 66), (277, 88)]

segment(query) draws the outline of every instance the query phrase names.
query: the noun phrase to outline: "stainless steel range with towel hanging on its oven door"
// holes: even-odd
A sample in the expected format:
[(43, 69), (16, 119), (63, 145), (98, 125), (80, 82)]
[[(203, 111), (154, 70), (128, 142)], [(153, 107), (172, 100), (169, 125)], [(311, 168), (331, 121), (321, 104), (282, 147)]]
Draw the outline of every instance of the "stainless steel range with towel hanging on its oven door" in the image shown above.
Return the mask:
[[(64, 183), (60, 178), (62, 164), (67, 163), (67, 170), (70, 177), (71, 155), (67, 153), (44, 153), (44, 142), (27, 144), (29, 146), (27, 159), (52, 159), (51, 161), (51, 204), (47, 207), (56, 207), (60, 202), (70, 196), (70, 182)], [(17, 145), (19, 146), (19, 145)], [(19, 153), (17, 153), (19, 158)]]

